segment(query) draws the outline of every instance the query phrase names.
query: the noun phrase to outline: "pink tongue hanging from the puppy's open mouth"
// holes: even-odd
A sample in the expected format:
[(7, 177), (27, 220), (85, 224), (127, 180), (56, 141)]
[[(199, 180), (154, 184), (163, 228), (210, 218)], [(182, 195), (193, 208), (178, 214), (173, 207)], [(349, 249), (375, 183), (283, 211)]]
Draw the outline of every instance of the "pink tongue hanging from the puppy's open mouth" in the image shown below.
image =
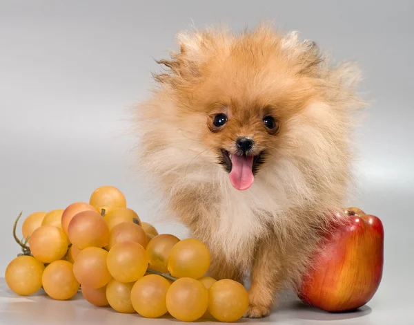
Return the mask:
[(237, 156), (233, 155), (231, 160), (233, 167), (230, 171), (230, 182), (235, 189), (243, 191), (248, 189), (255, 180), (253, 176), (253, 156)]

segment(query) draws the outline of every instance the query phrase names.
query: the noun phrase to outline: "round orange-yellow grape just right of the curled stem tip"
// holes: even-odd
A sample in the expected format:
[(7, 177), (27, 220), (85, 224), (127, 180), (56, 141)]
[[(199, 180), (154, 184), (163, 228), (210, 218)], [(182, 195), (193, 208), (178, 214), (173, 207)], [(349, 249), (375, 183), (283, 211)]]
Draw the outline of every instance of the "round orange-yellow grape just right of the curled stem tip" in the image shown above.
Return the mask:
[(68, 237), (63, 230), (53, 225), (41, 225), (29, 239), (33, 257), (43, 263), (63, 258), (68, 251), (68, 243)]

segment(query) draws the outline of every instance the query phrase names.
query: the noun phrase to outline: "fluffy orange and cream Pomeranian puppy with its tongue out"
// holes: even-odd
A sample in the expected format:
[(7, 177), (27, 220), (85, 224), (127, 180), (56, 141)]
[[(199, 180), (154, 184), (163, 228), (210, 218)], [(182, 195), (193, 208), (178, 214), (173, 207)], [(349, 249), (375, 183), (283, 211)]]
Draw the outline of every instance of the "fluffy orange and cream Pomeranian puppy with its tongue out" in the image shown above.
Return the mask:
[(250, 276), (246, 317), (264, 317), (299, 283), (349, 192), (359, 71), (268, 25), (177, 38), (135, 107), (139, 167), (208, 245), (211, 276)]

